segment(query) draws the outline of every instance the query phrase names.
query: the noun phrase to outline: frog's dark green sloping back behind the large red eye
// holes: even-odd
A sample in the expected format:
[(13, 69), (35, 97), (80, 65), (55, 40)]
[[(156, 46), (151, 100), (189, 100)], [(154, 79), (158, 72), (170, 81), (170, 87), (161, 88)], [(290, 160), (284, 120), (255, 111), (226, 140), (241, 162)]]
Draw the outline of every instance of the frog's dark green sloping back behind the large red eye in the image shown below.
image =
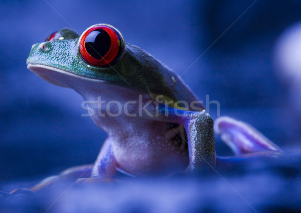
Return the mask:
[[(180, 101), (178, 106), (186, 108), (186, 110), (204, 110), (204, 106), (197, 96), (171, 68), (135, 45), (127, 43), (126, 53), (125, 57), (136, 60), (135, 63), (139, 64), (137, 70), (139, 79), (152, 98), (164, 95), (164, 99), (167, 101)], [(191, 107), (193, 101), (193, 107)], [(187, 105), (185, 105), (186, 103)]]

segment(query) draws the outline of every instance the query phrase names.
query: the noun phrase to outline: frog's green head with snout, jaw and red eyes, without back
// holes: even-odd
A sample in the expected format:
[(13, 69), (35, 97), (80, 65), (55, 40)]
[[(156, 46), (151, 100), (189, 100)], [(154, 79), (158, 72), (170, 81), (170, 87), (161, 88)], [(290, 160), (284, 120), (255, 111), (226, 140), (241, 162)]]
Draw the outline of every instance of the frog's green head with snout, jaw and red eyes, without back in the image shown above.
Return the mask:
[(112, 26), (94, 25), (81, 36), (64, 28), (51, 34), (45, 42), (34, 44), (27, 64), (38, 76), (59, 86), (73, 88), (77, 79), (124, 82), (114, 71), (117, 67), (113, 68), (124, 52), (123, 37)]

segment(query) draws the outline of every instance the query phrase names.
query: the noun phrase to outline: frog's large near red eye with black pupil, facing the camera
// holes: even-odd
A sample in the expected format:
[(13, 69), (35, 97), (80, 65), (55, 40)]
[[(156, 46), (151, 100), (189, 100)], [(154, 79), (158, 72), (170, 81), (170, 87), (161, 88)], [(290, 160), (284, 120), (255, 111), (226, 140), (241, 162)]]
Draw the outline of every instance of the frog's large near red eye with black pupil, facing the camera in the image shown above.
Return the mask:
[(112, 66), (123, 55), (124, 40), (121, 33), (112, 26), (94, 25), (81, 36), (79, 51), (89, 64), (100, 67)]

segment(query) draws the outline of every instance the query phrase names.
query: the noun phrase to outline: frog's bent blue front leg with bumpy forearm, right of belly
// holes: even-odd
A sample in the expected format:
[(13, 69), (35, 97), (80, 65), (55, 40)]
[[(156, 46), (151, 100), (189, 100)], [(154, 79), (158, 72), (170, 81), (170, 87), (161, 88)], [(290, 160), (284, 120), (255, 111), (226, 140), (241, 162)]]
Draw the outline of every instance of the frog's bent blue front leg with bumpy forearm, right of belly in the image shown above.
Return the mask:
[(187, 171), (215, 167), (213, 120), (205, 110), (202, 112), (186, 111), (162, 104), (159, 105), (159, 114), (161, 121), (181, 124), (186, 130), (189, 149)]

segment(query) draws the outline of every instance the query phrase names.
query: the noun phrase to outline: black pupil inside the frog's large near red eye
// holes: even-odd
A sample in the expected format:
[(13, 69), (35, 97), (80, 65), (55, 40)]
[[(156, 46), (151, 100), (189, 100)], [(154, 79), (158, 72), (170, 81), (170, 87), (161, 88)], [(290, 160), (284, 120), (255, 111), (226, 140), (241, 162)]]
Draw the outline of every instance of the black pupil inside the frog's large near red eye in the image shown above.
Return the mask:
[(111, 47), (110, 35), (103, 29), (89, 33), (85, 40), (85, 48), (90, 56), (97, 60), (104, 57)]

